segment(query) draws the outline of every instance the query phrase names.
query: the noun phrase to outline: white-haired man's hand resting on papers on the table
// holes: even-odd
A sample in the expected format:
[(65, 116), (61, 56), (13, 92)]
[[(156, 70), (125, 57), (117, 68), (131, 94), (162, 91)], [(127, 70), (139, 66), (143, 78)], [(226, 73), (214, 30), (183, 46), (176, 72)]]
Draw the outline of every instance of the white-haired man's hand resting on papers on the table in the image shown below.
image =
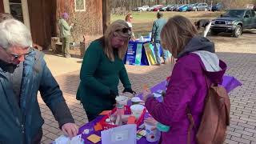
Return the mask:
[(72, 138), (78, 134), (78, 126), (74, 123), (65, 123), (62, 126), (62, 132)]

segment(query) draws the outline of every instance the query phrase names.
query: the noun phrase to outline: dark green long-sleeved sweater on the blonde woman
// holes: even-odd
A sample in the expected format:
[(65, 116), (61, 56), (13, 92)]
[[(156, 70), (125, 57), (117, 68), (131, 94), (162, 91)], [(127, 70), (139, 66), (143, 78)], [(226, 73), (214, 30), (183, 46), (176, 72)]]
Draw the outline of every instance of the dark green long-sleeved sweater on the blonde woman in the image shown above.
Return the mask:
[(110, 90), (118, 94), (118, 83), (121, 80), (125, 88), (130, 88), (126, 67), (118, 54), (114, 53), (111, 62), (103, 52), (102, 43), (96, 40), (86, 50), (80, 71), (80, 85), (77, 99), (81, 100), (84, 109), (90, 114), (99, 114), (102, 110), (114, 108), (114, 98)]

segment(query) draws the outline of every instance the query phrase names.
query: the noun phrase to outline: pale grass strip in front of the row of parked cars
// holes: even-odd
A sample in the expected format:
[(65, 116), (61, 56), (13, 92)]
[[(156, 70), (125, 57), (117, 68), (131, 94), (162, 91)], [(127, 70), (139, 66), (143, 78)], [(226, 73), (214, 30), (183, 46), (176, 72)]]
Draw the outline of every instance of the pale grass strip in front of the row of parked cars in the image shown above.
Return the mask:
[[(175, 15), (182, 15), (186, 18), (189, 18), (191, 21), (195, 22), (201, 18), (214, 19), (217, 18), (220, 14), (224, 12), (210, 12), (210, 11), (198, 11), (198, 12), (173, 12), (166, 11), (162, 12), (164, 18), (172, 18)], [(153, 22), (156, 19), (157, 12), (132, 12), (133, 14), (133, 26), (134, 34), (136, 38), (139, 38), (141, 35), (147, 35), (153, 26)], [(111, 22), (114, 22), (118, 19), (125, 20), (126, 15), (111, 15)]]

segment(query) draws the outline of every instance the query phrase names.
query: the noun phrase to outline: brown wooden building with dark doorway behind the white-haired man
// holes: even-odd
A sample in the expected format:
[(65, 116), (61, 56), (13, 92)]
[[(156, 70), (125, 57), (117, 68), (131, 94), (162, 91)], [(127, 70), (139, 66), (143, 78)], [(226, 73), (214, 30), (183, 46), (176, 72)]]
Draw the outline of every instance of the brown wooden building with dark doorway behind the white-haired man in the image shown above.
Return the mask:
[(0, 12), (13, 14), (30, 28), (35, 44), (46, 49), (51, 37), (58, 37), (58, 19), (62, 13), (74, 22), (74, 42), (82, 35), (102, 35), (110, 24), (110, 0), (0, 0)]

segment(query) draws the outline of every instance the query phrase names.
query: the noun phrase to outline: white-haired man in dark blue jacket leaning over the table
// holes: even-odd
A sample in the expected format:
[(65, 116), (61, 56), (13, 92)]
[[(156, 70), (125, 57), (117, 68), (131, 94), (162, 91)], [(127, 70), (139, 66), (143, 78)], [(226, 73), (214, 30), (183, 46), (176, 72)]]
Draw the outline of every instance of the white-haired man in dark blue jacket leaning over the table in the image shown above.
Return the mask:
[(0, 22), (0, 143), (40, 143), (44, 120), (38, 90), (59, 128), (70, 137), (78, 133), (43, 54), (30, 46), (30, 30), (22, 22), (12, 18)]

